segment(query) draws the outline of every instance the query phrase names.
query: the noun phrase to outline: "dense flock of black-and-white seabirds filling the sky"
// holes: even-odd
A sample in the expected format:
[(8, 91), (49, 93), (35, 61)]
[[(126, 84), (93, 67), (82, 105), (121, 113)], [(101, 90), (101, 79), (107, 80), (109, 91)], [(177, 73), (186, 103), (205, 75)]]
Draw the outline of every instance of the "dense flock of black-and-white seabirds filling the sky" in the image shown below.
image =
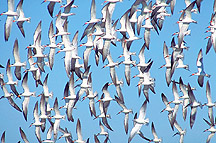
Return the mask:
[[(4, 94), (1, 99), (6, 98), (14, 110), (23, 114), (23, 117), (27, 122), (29, 120), (28, 112), (32, 111), (32, 109), (28, 108), (30, 98), (37, 98), (33, 109), (34, 122), (30, 127), (35, 127), (35, 136), (38, 142), (56, 142), (59, 140), (60, 142), (63, 142), (62, 138), (65, 138), (65, 141), (69, 143), (91, 142), (90, 140), (95, 143), (112, 142), (112, 138), (110, 138), (109, 134), (121, 132), (120, 130), (113, 129), (112, 124), (110, 124), (110, 120), (112, 119), (108, 109), (112, 106), (112, 102), (116, 102), (116, 104), (119, 105), (119, 108), (122, 108), (117, 114), (123, 113), (125, 115), (124, 120), (119, 122), (123, 122), (124, 132), (127, 135), (128, 143), (132, 142), (135, 136), (140, 136), (140, 142), (162, 142), (160, 133), (156, 133), (157, 125), (148, 118), (148, 114), (150, 114), (148, 108), (151, 106), (151, 97), (149, 95), (157, 93), (160, 94), (165, 106), (161, 112), (168, 112), (168, 122), (173, 131), (177, 130), (177, 133), (175, 133), (174, 136), (180, 136), (180, 143), (184, 142), (184, 137), (187, 136), (187, 132), (177, 121), (177, 119), (179, 119), (177, 116), (180, 116), (178, 112), (179, 107), (182, 106), (182, 117), (185, 121), (187, 119), (187, 113), (190, 111), (189, 122), (190, 128), (192, 129), (196, 123), (198, 107), (202, 108), (203, 106), (207, 106), (208, 118), (203, 118), (203, 120), (210, 128), (206, 129), (204, 132), (210, 132), (206, 139), (206, 142), (210, 142), (216, 132), (216, 121), (213, 114), (213, 108), (216, 104), (212, 102), (211, 99), (209, 80), (205, 84), (204, 79), (211, 79), (211, 75), (204, 70), (203, 55), (208, 54), (211, 47), (213, 47), (216, 52), (216, 2), (214, 1), (214, 5), (211, 6), (213, 7), (213, 13), (210, 19), (210, 26), (208, 27), (209, 30), (206, 31), (210, 33), (210, 36), (206, 37), (206, 39), (208, 39), (206, 52), (203, 53), (202, 49), (198, 50), (196, 61), (197, 72), (191, 74), (191, 76), (196, 75), (198, 77), (198, 88), (206, 90), (207, 103), (201, 103), (196, 100), (194, 90), (196, 90), (197, 87), (193, 87), (195, 85), (192, 86), (190, 83), (185, 83), (186, 79), (183, 82), (181, 75), (179, 79), (173, 78), (174, 73), (178, 69), (189, 71), (189, 65), (185, 64), (184, 61), (185, 55), (187, 55), (186, 52), (188, 52), (189, 49), (189, 47), (186, 46), (187, 41), (185, 40), (185, 37), (188, 37), (188, 35), (193, 33), (189, 26), (197, 23), (197, 21), (193, 19), (194, 13), (199, 14), (202, 10), (202, 0), (184, 1), (186, 6), (180, 12), (179, 20), (177, 21), (179, 30), (173, 34), (170, 48), (168, 48), (165, 41), (164, 43), (160, 43), (160, 46), (163, 46), (165, 63), (160, 68), (166, 68), (164, 73), (165, 84), (167, 87), (172, 88), (173, 101), (169, 101), (165, 93), (158, 93), (155, 90), (155, 86), (158, 85), (155, 85), (156, 79), (151, 76), (150, 72), (152, 65), (156, 61), (152, 59), (146, 60), (144, 53), (146, 50), (152, 50), (151, 43), (154, 42), (154, 40), (151, 39), (151, 34), (156, 33), (159, 35), (163, 30), (163, 27), (166, 26), (164, 24), (166, 17), (172, 17), (175, 12), (176, 0), (156, 0), (156, 2), (149, 0), (135, 0), (132, 5), (128, 7), (128, 10), (123, 12), (119, 19), (113, 19), (113, 14), (115, 13), (115, 6), (121, 3), (122, 0), (107, 0), (104, 2), (101, 9), (101, 18), (98, 18), (96, 15), (95, 0), (92, 0), (90, 6), (90, 20), (84, 23), (84, 30), (77, 30), (75, 32), (72, 40), (70, 39), (70, 35), (73, 34), (68, 30), (68, 19), (71, 16), (76, 16), (75, 13), (71, 12), (73, 8), (79, 8), (76, 5), (76, 0), (67, 0), (65, 5), (62, 5), (61, 0), (44, 0), (42, 3), (49, 3), (47, 6), (47, 14), (54, 19), (50, 22), (47, 31), (50, 43), (46, 45), (41, 44), (42, 21), (39, 21), (33, 34), (33, 43), (26, 48), (27, 61), (23, 62), (21, 61), (19, 54), (19, 42), (21, 41), (14, 39), (14, 43), (11, 46), (13, 47), (13, 58), (8, 58), (7, 63), (1, 63), (0, 65), (0, 85)], [(27, 14), (24, 15), (25, 9), (23, 10), (23, 3), (24, 1), (20, 0), (15, 9), (14, 0), (8, 0), (8, 11), (1, 13), (1, 15), (6, 15), (7, 17), (4, 24), (5, 42), (10, 39), (10, 35), (13, 33), (13, 22), (17, 24), (21, 34), (25, 37), (25, 28), (23, 24), (25, 22), (30, 22), (30, 19), (33, 19), (33, 17), (25, 17)], [(57, 3), (61, 4), (61, 8), (59, 8), (58, 14), (54, 16), (54, 8), (57, 9)], [(168, 11), (170, 11), (170, 13)], [(118, 26), (118, 24), (120, 26)], [(56, 31), (54, 29), (56, 29)], [(143, 35), (141, 33), (142, 29), (144, 30)], [(78, 37), (80, 34), (82, 34), (82, 36), (79, 39)], [(79, 45), (78, 43), (84, 41), (85, 38), (87, 41)], [(141, 39), (144, 39), (143, 45), (136, 47), (139, 49), (139, 60), (132, 60), (137, 54), (133, 52), (131, 47), (133, 47), (135, 41)], [(57, 43), (57, 40), (60, 42)], [(80, 53), (80, 48), (82, 47), (85, 47), (85, 50), (83, 53)], [(115, 62), (113, 60), (114, 58), (111, 53), (117, 51), (117, 49), (114, 49), (113, 47), (122, 47), (123, 52), (118, 57), (119, 59), (124, 57), (121, 62)], [(49, 52), (45, 53), (45, 49), (47, 48), (49, 48)], [(50, 74), (56, 70), (55, 68), (57, 66), (55, 63), (56, 60), (58, 60), (58, 57), (56, 56), (58, 56), (59, 53), (64, 53), (64, 68), (68, 77), (68, 80), (65, 81), (66, 84), (64, 89), (62, 89), (63, 97), (55, 95), (55, 93), (50, 92), (50, 89), (48, 88), (48, 85), (51, 84), (48, 84), (49, 77)], [(82, 54), (83, 56), (80, 56)], [(94, 55), (95, 63), (89, 59), (90, 54)], [(12, 62), (13, 59), (14, 62)], [(105, 64), (107, 62), (108, 64)], [(103, 65), (102, 69), (97, 68), (101, 64)], [(118, 75), (117, 71), (119, 66), (124, 67), (124, 74), (122, 75)], [(93, 76), (94, 67), (101, 71), (105, 68), (109, 68), (109, 75), (105, 75), (106, 77), (109, 77), (109, 81), (101, 85), (102, 89), (93, 88), (94, 83), (98, 82)], [(5, 71), (4, 69), (6, 69), (6, 74), (3, 74)], [(12, 70), (14, 71), (13, 73)], [(138, 70), (139, 73), (135, 76), (131, 76), (132, 70)], [(119, 76), (121, 76), (122, 79), (119, 79)], [(45, 78), (43, 79), (43, 77)], [(15, 80), (15, 78), (17, 80)], [(132, 78), (139, 79), (137, 85), (131, 84)], [(32, 87), (29, 88), (28, 83), (30, 79), (34, 80), (36, 88), (42, 87), (40, 93), (32, 91)], [(20, 82), (21, 85), (18, 84)], [(140, 96), (144, 95), (145, 98), (142, 104), (139, 105), (140, 109), (138, 111), (134, 111), (127, 107), (131, 105), (126, 102), (128, 97), (125, 96), (127, 93), (122, 91), (123, 84), (126, 86), (137, 86), (139, 99), (141, 99)], [(206, 88), (204, 88), (204, 85), (206, 85)], [(115, 87), (115, 95), (110, 94), (109, 89), (111, 86)], [(17, 90), (17, 88), (20, 87), (23, 88), (23, 92)], [(101, 93), (101, 96), (99, 93)], [(182, 94), (182, 96), (180, 96), (180, 94)], [(14, 97), (23, 100), (22, 107), (16, 103), (16, 100), (19, 99), (15, 99)], [(54, 102), (52, 98), (55, 98)], [(99, 133), (92, 133), (93, 139), (91, 139), (92, 137), (87, 139), (82, 137), (82, 120), (76, 116), (76, 110), (79, 111), (77, 103), (83, 104), (82, 101), (87, 98), (89, 99), (90, 115), (86, 115), (89, 117), (85, 120), (98, 122), (99, 128), (101, 129), (101, 132)], [(65, 105), (59, 106), (60, 99), (65, 101)], [(1, 102), (5, 102), (5, 100), (1, 100)], [(191, 110), (189, 110), (189, 108), (191, 108)], [(65, 110), (64, 114), (62, 114), (62, 110)], [(96, 112), (98, 110), (100, 113)], [(129, 118), (133, 118), (133, 126), (129, 125)], [(75, 137), (75, 134), (72, 136), (67, 127), (62, 127), (62, 120), (76, 123), (77, 138)], [(153, 138), (146, 136), (141, 131), (142, 126), (148, 124), (151, 126)], [(28, 134), (26, 134), (28, 131), (23, 130), (22, 127), (19, 128), (19, 131), (25, 143), (36, 142), (28, 140)], [(6, 134), (7, 131), (2, 133), (2, 143), (7, 140)], [(46, 134), (46, 139), (42, 138), (41, 134)], [(103, 141), (102, 139), (99, 140), (99, 136), (104, 136), (105, 139)]]

